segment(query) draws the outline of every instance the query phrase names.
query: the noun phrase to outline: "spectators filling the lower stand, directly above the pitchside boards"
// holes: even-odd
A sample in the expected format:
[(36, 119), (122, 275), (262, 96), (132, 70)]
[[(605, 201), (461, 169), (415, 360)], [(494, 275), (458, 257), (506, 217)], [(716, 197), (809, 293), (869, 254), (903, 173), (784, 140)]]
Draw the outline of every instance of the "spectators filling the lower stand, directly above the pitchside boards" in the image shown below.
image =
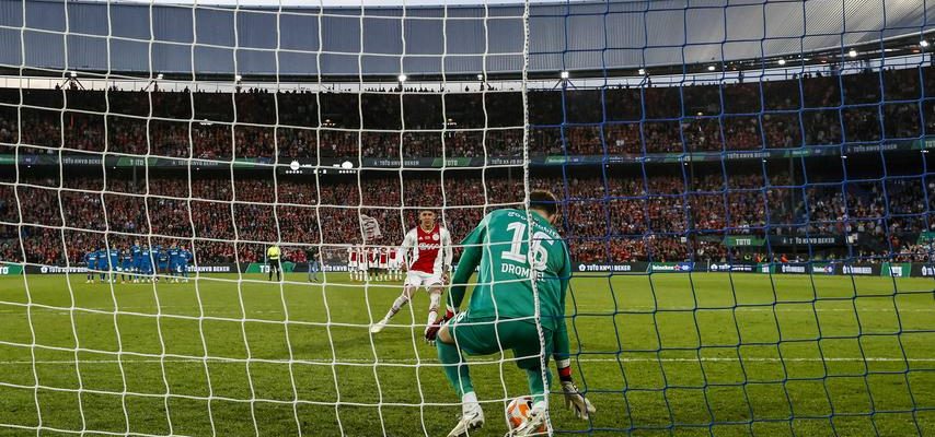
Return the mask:
[[(56, 178), (21, 179), (14, 190), (9, 180), (0, 180), (0, 221), (8, 223), (0, 226), (2, 259), (19, 260), (25, 250), (30, 262), (62, 264), (67, 248), (69, 261), (78, 262), (105, 237), (117, 247), (137, 238), (150, 246), (189, 245), (199, 262), (259, 261), (269, 241), (297, 251), (324, 244), (326, 251), (339, 253), (342, 245), (363, 243), (359, 214), (376, 218), (381, 228), (382, 238), (368, 244), (393, 246), (423, 208), (439, 211), (459, 240), (485, 211), (517, 205), (523, 192), (520, 179), (463, 175), (443, 184), (425, 176), (361, 178), (359, 186), (356, 178), (322, 179), (320, 189), (314, 180), (274, 184), (255, 176), (233, 182), (220, 177), (191, 184), (172, 177), (151, 177), (149, 184), (103, 181), (66, 178), (59, 188)], [(563, 199), (561, 227), (580, 262), (743, 257), (728, 253), (725, 235), (859, 236), (852, 241), (855, 255), (894, 252), (898, 260), (926, 261), (932, 247), (917, 245), (914, 236), (935, 232), (935, 180), (923, 182), (897, 178), (803, 190), (790, 186), (787, 175), (766, 189), (763, 177), (754, 174), (727, 179), (705, 175), (691, 187), (680, 176), (666, 175), (531, 179), (533, 188)], [(21, 217), (18, 232), (10, 224)], [(762, 249), (752, 256), (767, 257)]]

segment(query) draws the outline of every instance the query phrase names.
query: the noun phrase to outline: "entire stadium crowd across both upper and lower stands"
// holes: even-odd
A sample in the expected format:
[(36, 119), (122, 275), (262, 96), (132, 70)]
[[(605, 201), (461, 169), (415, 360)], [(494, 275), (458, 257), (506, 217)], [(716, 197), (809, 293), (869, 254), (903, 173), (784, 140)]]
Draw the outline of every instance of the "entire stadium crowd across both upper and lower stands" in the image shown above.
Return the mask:
[[(923, 98), (935, 94), (934, 71), (531, 91), (530, 154), (836, 147), (922, 138), (935, 131), (935, 101)], [(280, 162), (520, 156), (522, 126), (522, 95), (512, 91), (0, 90), (0, 144), (20, 154), (278, 156)], [(478, 172), (405, 177), (374, 172), (379, 175), (359, 180), (322, 179), (321, 186), (299, 177), (205, 172), (180, 180), (152, 172), (136, 182), (126, 175), (108, 177), (106, 185), (94, 176), (0, 176), (0, 260), (22, 260), (25, 252), (30, 262), (62, 264), (65, 256), (78, 262), (105, 238), (126, 246), (141, 236), (150, 245), (192, 241), (200, 262), (257, 261), (268, 241), (324, 244), (335, 250), (359, 244), (361, 215), (376, 218), (383, 235), (368, 244), (395, 245), (423, 206), (440, 211), (459, 239), (485, 211), (520, 202), (523, 188), (519, 179)], [(931, 173), (852, 181), (812, 172), (805, 187), (796, 180), (783, 173), (770, 180), (749, 172), (608, 173), (538, 175), (531, 184), (563, 199), (562, 228), (582, 262), (781, 255), (741, 253), (722, 244), (725, 235), (840, 235), (847, 238), (847, 250), (861, 256), (931, 259), (931, 243), (913, 237), (935, 231)]]

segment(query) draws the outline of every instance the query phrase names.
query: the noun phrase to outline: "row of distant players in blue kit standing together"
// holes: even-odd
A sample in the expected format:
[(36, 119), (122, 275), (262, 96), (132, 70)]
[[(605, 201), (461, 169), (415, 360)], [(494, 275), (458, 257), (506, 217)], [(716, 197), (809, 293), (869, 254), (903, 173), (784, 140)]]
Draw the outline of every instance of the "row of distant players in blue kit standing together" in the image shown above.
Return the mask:
[(159, 282), (158, 275), (169, 276), (169, 282), (188, 282), (188, 264), (194, 258), (194, 253), (185, 246), (178, 247), (175, 243), (168, 249), (157, 245), (151, 250), (149, 246), (140, 245), (139, 240), (123, 249), (92, 247), (84, 255), (88, 267), (85, 283), (93, 284), (95, 275), (100, 275), (101, 283), (116, 283), (117, 276), (124, 284), (127, 281)]

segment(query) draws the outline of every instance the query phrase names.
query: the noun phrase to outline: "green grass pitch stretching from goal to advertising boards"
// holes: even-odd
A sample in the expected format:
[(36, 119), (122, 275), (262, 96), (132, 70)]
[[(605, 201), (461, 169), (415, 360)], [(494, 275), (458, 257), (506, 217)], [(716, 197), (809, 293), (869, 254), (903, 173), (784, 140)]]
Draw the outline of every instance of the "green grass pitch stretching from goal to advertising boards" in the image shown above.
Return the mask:
[[(0, 279), (0, 435), (438, 436), (454, 425), (455, 395), (412, 326), (425, 320), (424, 294), (371, 336), (397, 283), (243, 279)], [(598, 414), (577, 421), (553, 395), (553, 426), (933, 435), (933, 288), (931, 279), (578, 276), (575, 375)], [(472, 366), (483, 436), (504, 434), (504, 399), (526, 389), (499, 358)]]

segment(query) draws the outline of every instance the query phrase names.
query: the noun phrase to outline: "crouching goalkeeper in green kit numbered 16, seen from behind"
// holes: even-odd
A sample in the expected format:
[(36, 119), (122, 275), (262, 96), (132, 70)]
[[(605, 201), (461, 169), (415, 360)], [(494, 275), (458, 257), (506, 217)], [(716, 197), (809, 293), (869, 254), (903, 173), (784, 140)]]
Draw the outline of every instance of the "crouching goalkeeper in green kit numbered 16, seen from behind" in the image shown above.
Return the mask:
[[(469, 355), (513, 351), (517, 366), (527, 373), (533, 395), (530, 416), (513, 430), (515, 436), (536, 434), (547, 421), (542, 366), (550, 356), (558, 364), (566, 405), (585, 420), (595, 412), (572, 380), (565, 327), (565, 291), (572, 261), (568, 248), (553, 227), (556, 218), (555, 196), (533, 191), (529, 216), (522, 210), (494, 211), (461, 241), (464, 252), (452, 280), (448, 314), (426, 333), (427, 340), (438, 340), (438, 357), (445, 375), (461, 397), (461, 420), (449, 437), (465, 436), (484, 424), (484, 412), (474, 393), (462, 351)], [(531, 231), (528, 231), (529, 224), (533, 226)], [(529, 235), (532, 235), (531, 245)], [(451, 320), (464, 298), (465, 284), (478, 265), (480, 274), (470, 305)], [(544, 347), (535, 321), (533, 277), (539, 292)], [(547, 368), (544, 374), (551, 382), (552, 374)]]

